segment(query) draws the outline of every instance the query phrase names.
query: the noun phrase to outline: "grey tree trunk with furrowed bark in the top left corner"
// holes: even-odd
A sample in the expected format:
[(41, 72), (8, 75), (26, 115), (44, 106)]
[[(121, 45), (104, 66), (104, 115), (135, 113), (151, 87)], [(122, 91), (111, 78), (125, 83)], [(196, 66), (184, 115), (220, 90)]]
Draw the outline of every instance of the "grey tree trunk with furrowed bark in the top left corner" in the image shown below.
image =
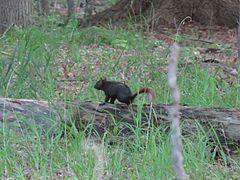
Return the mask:
[(30, 24), (31, 16), (32, 0), (0, 0), (0, 33), (12, 24)]

